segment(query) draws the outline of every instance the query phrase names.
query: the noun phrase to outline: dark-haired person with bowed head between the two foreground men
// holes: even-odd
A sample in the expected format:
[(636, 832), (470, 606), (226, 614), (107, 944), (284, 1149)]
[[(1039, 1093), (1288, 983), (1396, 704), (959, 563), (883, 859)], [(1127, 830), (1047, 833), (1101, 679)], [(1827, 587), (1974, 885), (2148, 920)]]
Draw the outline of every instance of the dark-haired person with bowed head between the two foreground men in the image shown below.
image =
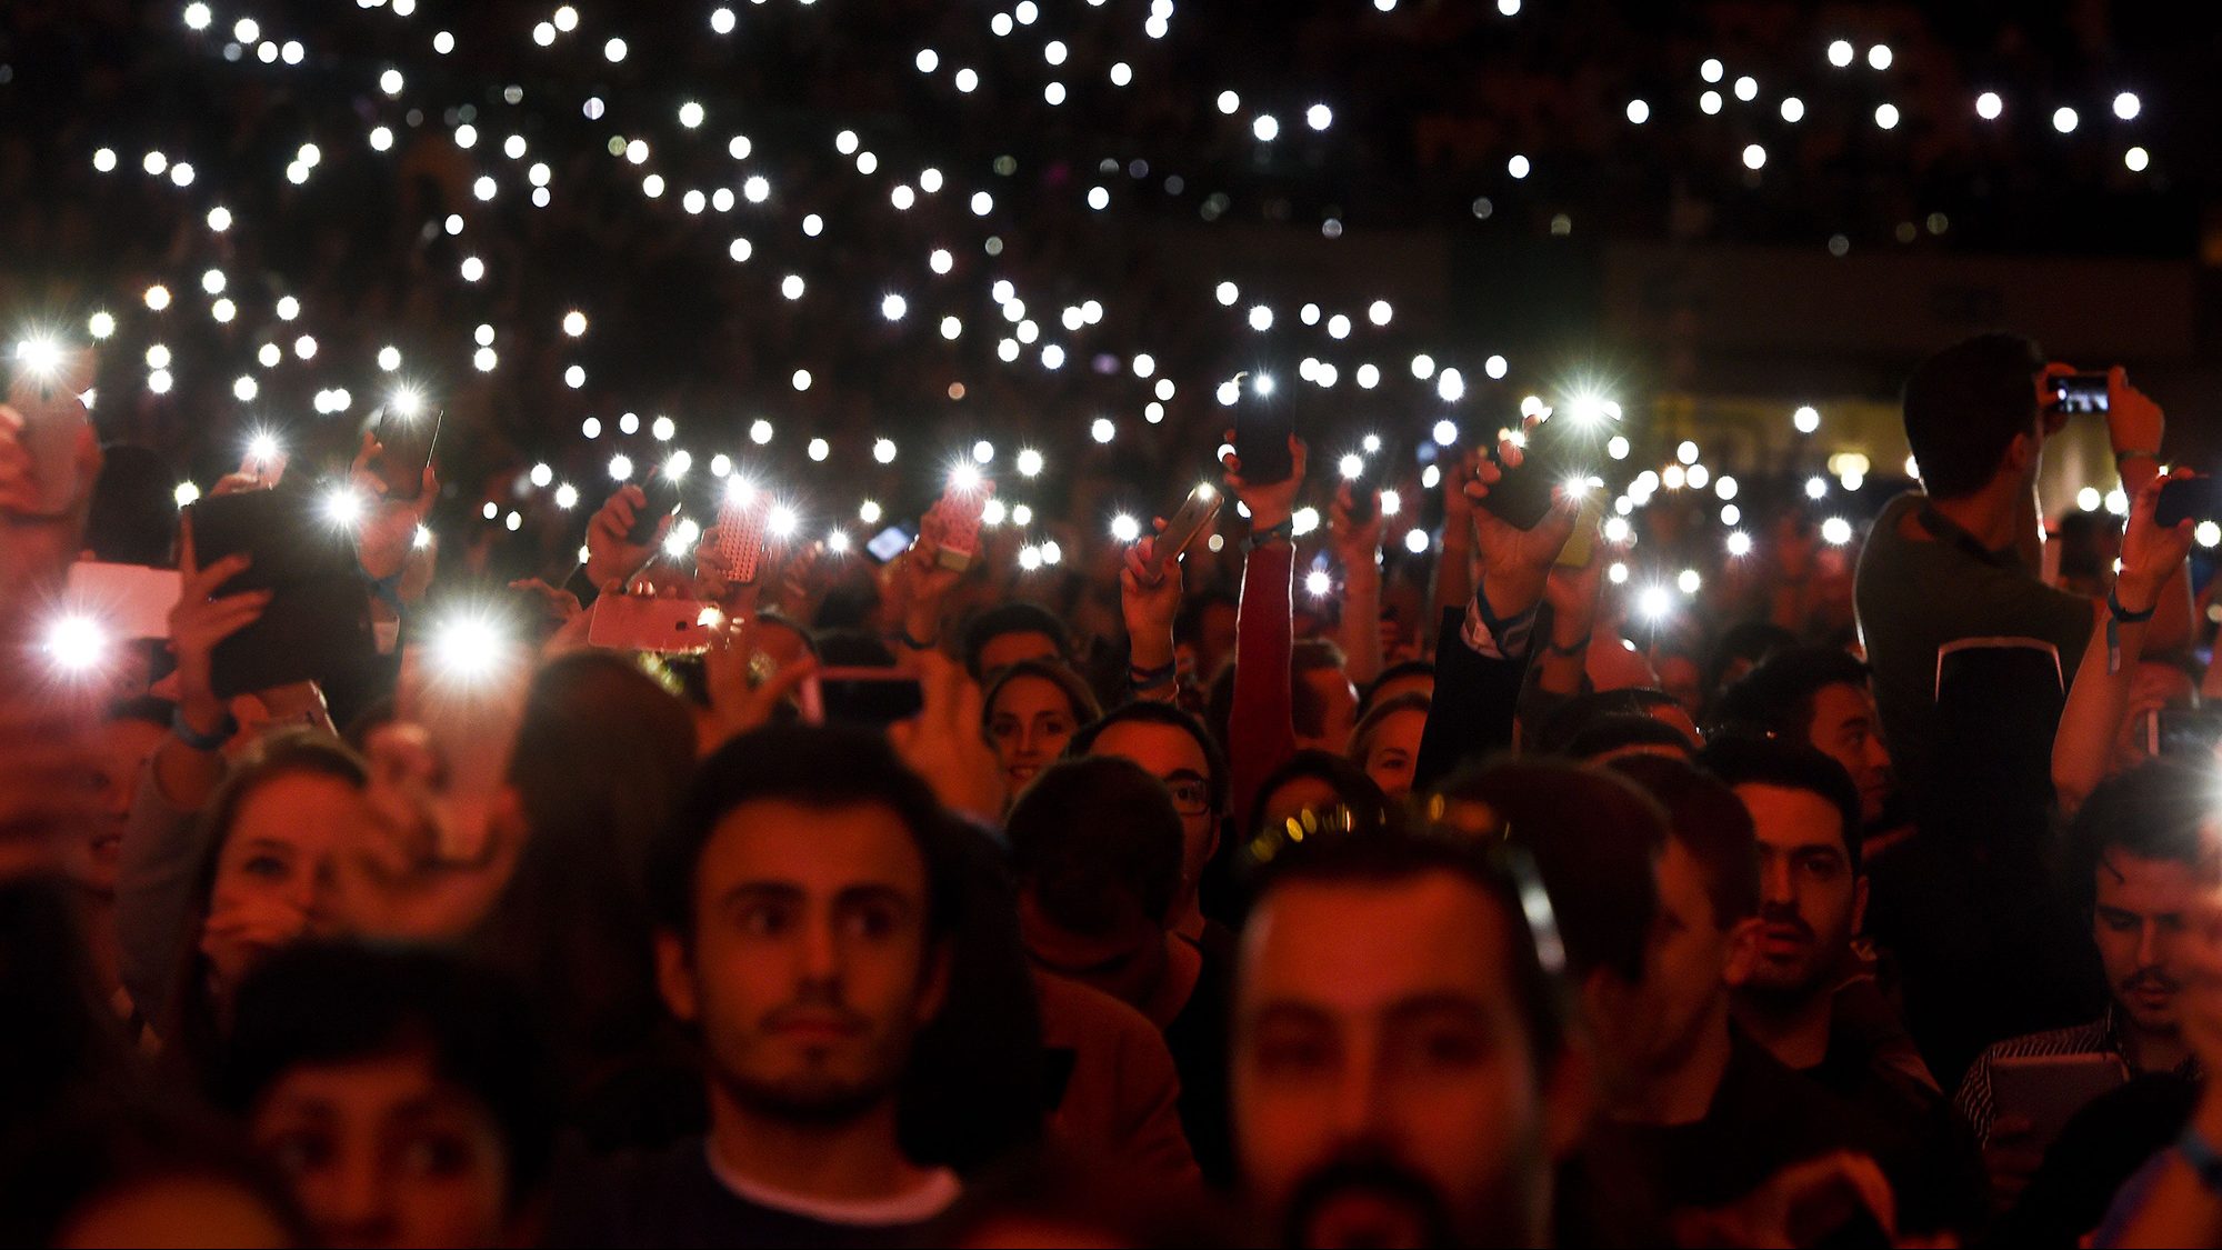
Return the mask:
[(1027, 952), (1164, 1030), (1180, 1070), (1180, 1125), (1204, 1179), (1224, 1185), (1231, 981), (1175, 930), (1184, 834), (1171, 792), (1127, 758), (1067, 761), (1027, 787), (1004, 836)]

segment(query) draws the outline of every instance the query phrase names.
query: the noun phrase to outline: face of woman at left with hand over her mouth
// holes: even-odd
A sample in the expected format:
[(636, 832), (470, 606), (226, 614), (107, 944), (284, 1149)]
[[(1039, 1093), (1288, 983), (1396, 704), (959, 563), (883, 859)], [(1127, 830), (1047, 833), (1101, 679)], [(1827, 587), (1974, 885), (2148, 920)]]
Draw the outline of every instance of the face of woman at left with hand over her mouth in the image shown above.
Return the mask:
[(284, 772), (240, 801), (216, 859), (200, 952), (222, 985), (269, 952), (331, 927), (340, 847), (369, 816), (362, 792), (316, 772)]

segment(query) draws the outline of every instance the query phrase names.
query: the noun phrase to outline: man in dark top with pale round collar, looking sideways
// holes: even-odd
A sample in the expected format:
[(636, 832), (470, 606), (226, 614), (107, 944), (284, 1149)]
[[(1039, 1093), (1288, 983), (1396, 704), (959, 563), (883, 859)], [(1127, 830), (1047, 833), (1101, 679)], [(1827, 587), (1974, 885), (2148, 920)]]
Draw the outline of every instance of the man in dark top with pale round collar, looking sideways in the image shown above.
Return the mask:
[(562, 1246), (909, 1246), (958, 1199), (898, 1139), (940, 1010), (951, 847), (884, 741), (764, 730), (653, 847), (655, 972), (702, 1041), (711, 1130), (558, 1194)]

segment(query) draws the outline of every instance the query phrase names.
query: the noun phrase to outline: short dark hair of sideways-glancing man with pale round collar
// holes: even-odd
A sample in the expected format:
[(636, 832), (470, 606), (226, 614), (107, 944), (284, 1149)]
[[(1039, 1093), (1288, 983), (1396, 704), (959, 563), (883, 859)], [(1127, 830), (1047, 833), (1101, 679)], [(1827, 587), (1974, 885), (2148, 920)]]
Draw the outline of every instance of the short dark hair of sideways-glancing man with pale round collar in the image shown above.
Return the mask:
[(660, 927), (693, 939), (702, 847), (729, 812), (749, 803), (829, 812), (887, 807), (927, 861), (927, 934), (947, 934), (955, 883), (942, 805), (882, 734), (844, 725), (773, 725), (742, 734), (702, 761), (671, 825), (649, 845), (649, 903)]

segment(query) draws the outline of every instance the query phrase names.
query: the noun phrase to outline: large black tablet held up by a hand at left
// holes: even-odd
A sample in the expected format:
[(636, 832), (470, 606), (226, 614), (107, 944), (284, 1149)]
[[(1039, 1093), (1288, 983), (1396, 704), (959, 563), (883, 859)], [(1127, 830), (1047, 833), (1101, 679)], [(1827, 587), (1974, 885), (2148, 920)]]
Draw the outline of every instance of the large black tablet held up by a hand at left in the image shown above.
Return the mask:
[(233, 554), (251, 565), (218, 596), (271, 592), (262, 618), (211, 656), (216, 694), (253, 694), (353, 672), (378, 654), (353, 534), (318, 498), (289, 492), (209, 496), (187, 507), (200, 567)]

